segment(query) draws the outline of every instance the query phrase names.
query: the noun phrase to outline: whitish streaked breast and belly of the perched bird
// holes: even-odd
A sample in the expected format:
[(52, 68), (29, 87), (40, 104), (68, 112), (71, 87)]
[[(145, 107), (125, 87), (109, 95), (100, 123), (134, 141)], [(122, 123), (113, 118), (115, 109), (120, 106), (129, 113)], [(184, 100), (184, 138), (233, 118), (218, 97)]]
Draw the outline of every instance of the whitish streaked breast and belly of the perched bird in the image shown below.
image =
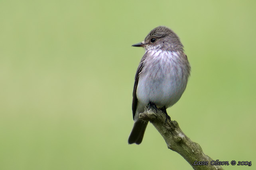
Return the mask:
[(177, 62), (177, 53), (161, 51), (154, 54), (144, 61), (144, 68), (139, 75), (137, 98), (145, 106), (153, 102), (160, 108), (168, 108), (180, 99), (187, 79), (182, 73), (182, 66)]

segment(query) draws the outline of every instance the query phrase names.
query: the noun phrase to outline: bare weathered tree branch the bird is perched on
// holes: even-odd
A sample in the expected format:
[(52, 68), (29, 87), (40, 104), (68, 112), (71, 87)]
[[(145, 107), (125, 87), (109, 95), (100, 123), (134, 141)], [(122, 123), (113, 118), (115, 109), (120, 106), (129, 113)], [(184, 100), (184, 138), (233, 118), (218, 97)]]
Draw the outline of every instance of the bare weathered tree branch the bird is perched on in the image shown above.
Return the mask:
[[(162, 135), (167, 147), (183, 156), (194, 170), (223, 170), (219, 165), (211, 165), (213, 159), (205, 155), (200, 145), (191, 141), (183, 133), (176, 121), (167, 120), (165, 122), (166, 115), (160, 109), (146, 106), (145, 112), (140, 113), (140, 118), (144, 121), (150, 121)], [(205, 161), (204, 165), (195, 165), (203, 164), (199, 161)]]

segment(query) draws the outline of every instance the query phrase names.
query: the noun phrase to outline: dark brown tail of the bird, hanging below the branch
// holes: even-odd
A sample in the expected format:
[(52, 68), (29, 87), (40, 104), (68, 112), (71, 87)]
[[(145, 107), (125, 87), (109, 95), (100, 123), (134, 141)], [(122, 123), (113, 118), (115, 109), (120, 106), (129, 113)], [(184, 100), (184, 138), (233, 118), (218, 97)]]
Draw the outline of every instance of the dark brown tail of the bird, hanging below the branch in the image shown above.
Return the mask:
[(143, 120), (137, 120), (134, 122), (134, 126), (132, 128), (132, 132), (130, 134), (130, 137), (128, 139), (128, 143), (136, 143), (139, 145), (142, 142), (146, 127), (148, 125), (148, 122), (144, 122)]

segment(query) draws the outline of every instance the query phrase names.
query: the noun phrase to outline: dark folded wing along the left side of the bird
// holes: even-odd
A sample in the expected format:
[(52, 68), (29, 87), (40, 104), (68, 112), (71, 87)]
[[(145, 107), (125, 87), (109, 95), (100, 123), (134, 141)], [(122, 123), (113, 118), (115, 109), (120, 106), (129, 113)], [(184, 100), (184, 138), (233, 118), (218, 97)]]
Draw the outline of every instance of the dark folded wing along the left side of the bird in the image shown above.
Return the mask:
[(135, 117), (136, 114), (136, 108), (137, 108), (137, 103), (138, 103), (138, 98), (136, 96), (136, 92), (137, 92), (137, 86), (138, 86), (138, 82), (139, 82), (139, 75), (142, 71), (142, 68), (144, 66), (143, 62), (146, 58), (146, 54), (144, 54), (144, 56), (142, 57), (141, 61), (140, 61), (140, 65), (137, 69), (136, 75), (135, 75), (135, 82), (134, 82), (134, 87), (133, 87), (133, 99), (132, 99), (132, 115), (133, 115), (133, 119)]

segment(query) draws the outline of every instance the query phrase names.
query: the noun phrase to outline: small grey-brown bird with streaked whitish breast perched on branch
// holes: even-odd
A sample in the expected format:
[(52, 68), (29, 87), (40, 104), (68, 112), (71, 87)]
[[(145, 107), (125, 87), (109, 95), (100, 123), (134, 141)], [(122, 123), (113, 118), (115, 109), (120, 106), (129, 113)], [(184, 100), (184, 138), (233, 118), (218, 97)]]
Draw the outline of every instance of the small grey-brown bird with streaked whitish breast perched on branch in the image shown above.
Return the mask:
[(179, 37), (168, 27), (154, 28), (144, 41), (133, 44), (144, 47), (145, 54), (138, 66), (132, 99), (134, 126), (128, 143), (142, 142), (148, 122), (139, 118), (148, 104), (166, 115), (186, 89), (191, 67)]

